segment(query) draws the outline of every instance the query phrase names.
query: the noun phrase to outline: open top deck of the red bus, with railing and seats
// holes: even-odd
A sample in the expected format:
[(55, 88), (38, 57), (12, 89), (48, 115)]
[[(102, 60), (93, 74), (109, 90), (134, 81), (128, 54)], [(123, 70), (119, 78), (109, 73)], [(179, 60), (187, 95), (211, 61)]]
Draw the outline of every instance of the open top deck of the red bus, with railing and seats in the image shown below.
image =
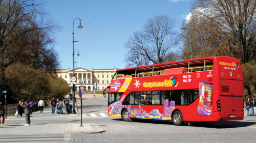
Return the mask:
[(135, 68), (117, 69), (115, 75), (113, 76), (113, 79), (208, 71), (213, 69), (214, 58), (215, 57), (201, 58), (201, 59), (140, 66)]

